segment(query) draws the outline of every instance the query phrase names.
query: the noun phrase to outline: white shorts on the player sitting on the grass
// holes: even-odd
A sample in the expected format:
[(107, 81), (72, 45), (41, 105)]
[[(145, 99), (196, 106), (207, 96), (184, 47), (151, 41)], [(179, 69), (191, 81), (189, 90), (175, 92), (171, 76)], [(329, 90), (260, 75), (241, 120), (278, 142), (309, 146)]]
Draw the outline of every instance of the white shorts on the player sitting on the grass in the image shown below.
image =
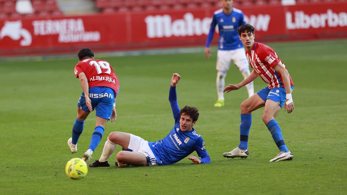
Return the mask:
[[(128, 151), (142, 153), (146, 156), (148, 164), (144, 164), (144, 166), (153, 166), (157, 165), (155, 156), (148, 145), (148, 142), (143, 138), (130, 134), (130, 142), (128, 146)], [(130, 149), (130, 150), (129, 150)]]

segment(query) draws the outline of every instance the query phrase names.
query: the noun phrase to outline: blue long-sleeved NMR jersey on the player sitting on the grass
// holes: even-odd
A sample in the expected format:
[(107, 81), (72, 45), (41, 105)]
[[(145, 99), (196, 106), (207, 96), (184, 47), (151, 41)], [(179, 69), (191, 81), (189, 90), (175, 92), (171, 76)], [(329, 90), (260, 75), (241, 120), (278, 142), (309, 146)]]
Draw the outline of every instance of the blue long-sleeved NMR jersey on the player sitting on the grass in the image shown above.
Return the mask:
[(176, 99), (176, 87), (170, 86), (169, 100), (175, 118), (175, 126), (164, 139), (148, 142), (156, 160), (161, 165), (173, 164), (196, 151), (198, 156), (204, 158), (201, 159), (202, 163), (209, 163), (210, 157), (205, 149), (205, 143), (201, 135), (194, 128), (189, 132), (182, 132), (180, 129), (180, 109)]

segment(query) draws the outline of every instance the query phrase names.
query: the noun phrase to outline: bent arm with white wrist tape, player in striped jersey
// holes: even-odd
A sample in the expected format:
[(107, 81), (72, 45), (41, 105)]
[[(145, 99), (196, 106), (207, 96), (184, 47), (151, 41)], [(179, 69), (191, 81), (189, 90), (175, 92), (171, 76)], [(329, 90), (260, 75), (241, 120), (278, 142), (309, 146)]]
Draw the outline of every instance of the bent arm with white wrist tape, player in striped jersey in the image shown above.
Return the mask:
[(286, 89), (286, 101), (284, 103), (284, 109), (287, 110), (288, 113), (291, 113), (294, 110), (294, 102), (293, 102), (293, 98), (291, 97), (291, 88), (290, 88), (290, 79), (289, 79), (288, 70), (281, 62), (278, 62), (278, 64), (275, 65), (273, 69), (277, 73), (281, 74), (282, 76), (282, 82)]

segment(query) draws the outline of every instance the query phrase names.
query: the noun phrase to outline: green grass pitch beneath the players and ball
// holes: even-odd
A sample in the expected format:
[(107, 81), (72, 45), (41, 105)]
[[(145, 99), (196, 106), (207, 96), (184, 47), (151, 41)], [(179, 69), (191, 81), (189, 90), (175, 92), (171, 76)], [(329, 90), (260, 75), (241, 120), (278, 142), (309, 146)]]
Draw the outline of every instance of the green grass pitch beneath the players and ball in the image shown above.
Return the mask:
[[(1, 62), (0, 194), (343, 194), (346, 192), (346, 48), (347, 40), (271, 43), (294, 81), (294, 112), (282, 109), (276, 120), (293, 161), (270, 163), (278, 153), (253, 112), (249, 157), (221, 155), (239, 143), (239, 105), (246, 88), (225, 94), (225, 107), (214, 108), (215, 58), (203, 53), (96, 58), (111, 63), (120, 80), (118, 118), (109, 122), (93, 153), (99, 159), (112, 131), (160, 140), (174, 125), (168, 92), (172, 73), (179, 73), (178, 103), (194, 105), (194, 126), (204, 138), (212, 163), (195, 165), (187, 158), (169, 166), (90, 168), (78, 181), (65, 175), (71, 158), (82, 158), (95, 126), (95, 111), (85, 122), (78, 153), (66, 144), (82, 93), (75, 59)], [(242, 76), (231, 66), (226, 84)], [(258, 77), (255, 91), (265, 87)], [(193, 154), (196, 154), (195, 152)]]

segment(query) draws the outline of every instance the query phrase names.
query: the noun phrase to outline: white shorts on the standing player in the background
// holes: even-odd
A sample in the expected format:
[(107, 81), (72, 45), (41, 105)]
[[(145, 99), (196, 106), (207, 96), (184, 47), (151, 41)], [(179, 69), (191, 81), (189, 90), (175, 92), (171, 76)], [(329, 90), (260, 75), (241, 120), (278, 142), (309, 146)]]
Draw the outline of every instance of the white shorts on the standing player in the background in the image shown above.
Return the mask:
[(245, 69), (249, 70), (249, 64), (244, 48), (235, 50), (218, 50), (216, 69), (218, 71), (229, 70), (231, 60), (240, 71), (243, 71)]

